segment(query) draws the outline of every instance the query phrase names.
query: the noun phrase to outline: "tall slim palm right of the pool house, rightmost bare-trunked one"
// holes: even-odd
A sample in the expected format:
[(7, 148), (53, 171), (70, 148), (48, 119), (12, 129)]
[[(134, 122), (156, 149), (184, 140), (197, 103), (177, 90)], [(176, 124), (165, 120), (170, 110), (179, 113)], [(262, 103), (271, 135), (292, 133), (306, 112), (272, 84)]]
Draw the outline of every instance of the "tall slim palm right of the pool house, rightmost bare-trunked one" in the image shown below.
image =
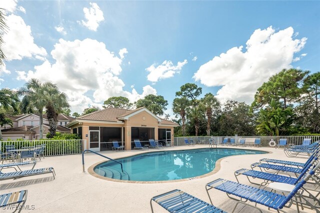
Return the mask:
[(205, 108), (205, 114), (207, 117), (207, 123), (206, 123), (206, 135), (210, 135), (210, 123), (211, 118), (213, 115), (213, 110), (217, 111), (220, 108), (220, 102), (219, 100), (213, 96), (213, 94), (206, 93), (203, 98), (201, 98), (201, 104), (203, 104), (203, 107)]

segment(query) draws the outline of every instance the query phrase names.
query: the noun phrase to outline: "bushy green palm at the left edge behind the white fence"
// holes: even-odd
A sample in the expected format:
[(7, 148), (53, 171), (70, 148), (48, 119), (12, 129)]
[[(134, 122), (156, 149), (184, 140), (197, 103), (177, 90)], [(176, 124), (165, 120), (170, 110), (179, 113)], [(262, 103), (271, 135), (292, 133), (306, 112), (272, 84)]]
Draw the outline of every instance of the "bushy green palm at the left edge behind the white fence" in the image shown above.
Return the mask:
[[(19, 101), (17, 95), (14, 91), (8, 88), (1, 88), (0, 89), (0, 106), (3, 109), (9, 109), (10, 107), (16, 111), (16, 102)], [(0, 113), (1, 120), (4, 120), (5, 115), (3, 112)], [(2, 139), (2, 133), (0, 129), (0, 139)]]

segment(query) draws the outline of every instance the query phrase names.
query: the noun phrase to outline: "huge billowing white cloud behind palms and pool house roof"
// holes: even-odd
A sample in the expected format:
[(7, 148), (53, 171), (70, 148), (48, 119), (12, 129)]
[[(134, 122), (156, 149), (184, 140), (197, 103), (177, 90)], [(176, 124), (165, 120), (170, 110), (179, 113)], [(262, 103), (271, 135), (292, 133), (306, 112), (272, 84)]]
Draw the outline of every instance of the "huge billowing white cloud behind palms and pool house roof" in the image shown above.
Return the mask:
[[(111, 96), (125, 96), (133, 102), (147, 94), (156, 94), (150, 85), (143, 87), (142, 94), (134, 88), (131, 92), (123, 90), (125, 84), (118, 77), (122, 60), (106, 49), (103, 42), (89, 38), (74, 41), (60, 38), (51, 55), (54, 63), (45, 60), (34, 70), (16, 71), (17, 79), (34, 77), (57, 83), (59, 89), (68, 95), (72, 111), (81, 112)], [(93, 91), (94, 100), (86, 95), (90, 91)]]

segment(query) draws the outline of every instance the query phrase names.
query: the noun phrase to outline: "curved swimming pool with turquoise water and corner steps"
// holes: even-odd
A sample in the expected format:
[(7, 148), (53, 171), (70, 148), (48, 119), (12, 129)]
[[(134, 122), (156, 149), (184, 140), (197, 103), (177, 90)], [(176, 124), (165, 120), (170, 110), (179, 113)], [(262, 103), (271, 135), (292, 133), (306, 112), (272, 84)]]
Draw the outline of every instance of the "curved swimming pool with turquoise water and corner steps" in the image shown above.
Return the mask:
[(95, 173), (114, 179), (135, 181), (175, 180), (200, 176), (212, 171), (215, 162), (225, 156), (262, 154), (265, 151), (235, 148), (198, 148), (174, 151), (145, 152), (96, 165)]

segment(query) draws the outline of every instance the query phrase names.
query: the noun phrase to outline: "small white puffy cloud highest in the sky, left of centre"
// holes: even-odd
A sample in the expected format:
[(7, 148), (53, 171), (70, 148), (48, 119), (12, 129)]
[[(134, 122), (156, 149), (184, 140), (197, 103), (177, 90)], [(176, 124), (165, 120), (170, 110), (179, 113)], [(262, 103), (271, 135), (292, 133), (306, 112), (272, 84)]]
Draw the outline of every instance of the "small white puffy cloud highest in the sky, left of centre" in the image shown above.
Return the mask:
[(96, 3), (90, 2), (90, 5), (90, 8), (83, 8), (86, 21), (81, 20), (81, 22), (78, 22), (83, 26), (86, 26), (88, 29), (96, 31), (99, 26), (99, 22), (104, 20), (103, 12), (100, 10), (100, 7)]

